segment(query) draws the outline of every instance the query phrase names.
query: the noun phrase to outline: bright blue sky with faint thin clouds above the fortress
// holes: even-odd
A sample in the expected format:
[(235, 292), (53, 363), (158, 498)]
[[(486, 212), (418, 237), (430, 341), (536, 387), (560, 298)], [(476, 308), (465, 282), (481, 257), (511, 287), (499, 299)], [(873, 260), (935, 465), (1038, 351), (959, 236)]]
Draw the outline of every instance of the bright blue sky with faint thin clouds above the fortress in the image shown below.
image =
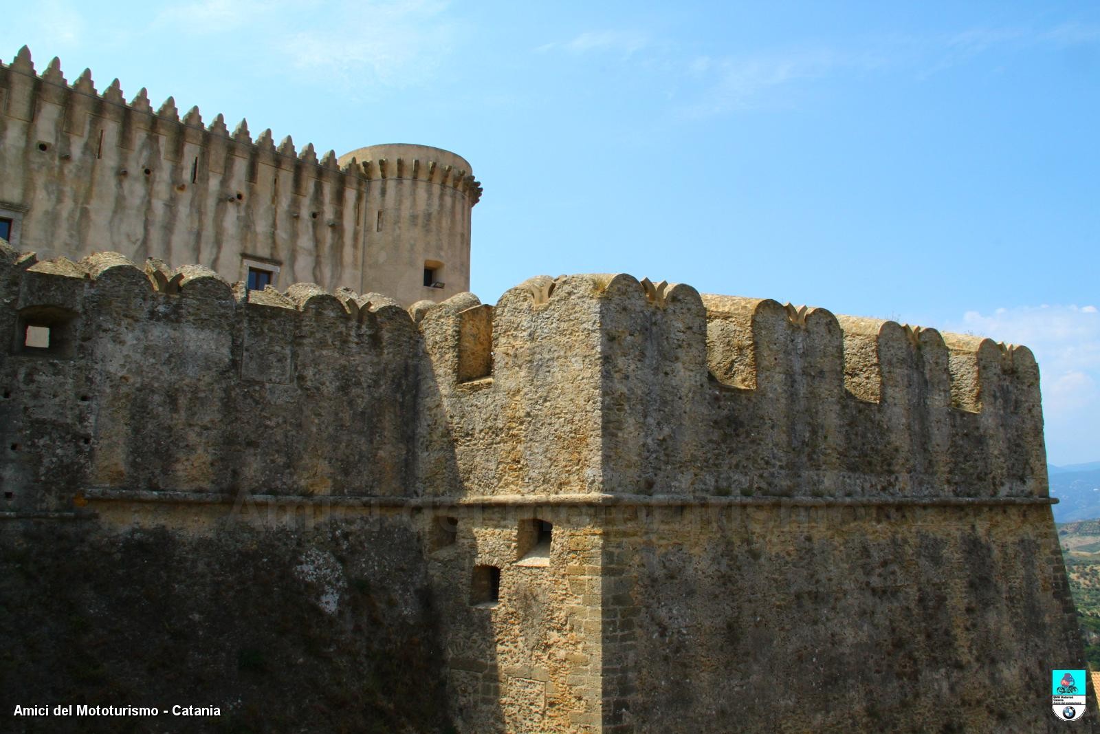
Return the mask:
[(301, 146), (452, 150), (472, 289), (628, 272), (1032, 347), (1056, 464), (1100, 460), (1100, 4), (196, 2), (6, 9)]

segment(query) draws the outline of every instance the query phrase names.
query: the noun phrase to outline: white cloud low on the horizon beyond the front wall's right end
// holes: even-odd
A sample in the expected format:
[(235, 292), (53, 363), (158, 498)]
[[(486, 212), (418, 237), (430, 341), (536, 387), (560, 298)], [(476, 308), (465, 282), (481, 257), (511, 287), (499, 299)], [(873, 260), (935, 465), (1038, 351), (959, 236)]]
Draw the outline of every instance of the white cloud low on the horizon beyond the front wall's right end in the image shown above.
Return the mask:
[(1052, 463), (1100, 460), (1100, 311), (1094, 305), (967, 311), (948, 330), (1028, 347), (1042, 374)]

